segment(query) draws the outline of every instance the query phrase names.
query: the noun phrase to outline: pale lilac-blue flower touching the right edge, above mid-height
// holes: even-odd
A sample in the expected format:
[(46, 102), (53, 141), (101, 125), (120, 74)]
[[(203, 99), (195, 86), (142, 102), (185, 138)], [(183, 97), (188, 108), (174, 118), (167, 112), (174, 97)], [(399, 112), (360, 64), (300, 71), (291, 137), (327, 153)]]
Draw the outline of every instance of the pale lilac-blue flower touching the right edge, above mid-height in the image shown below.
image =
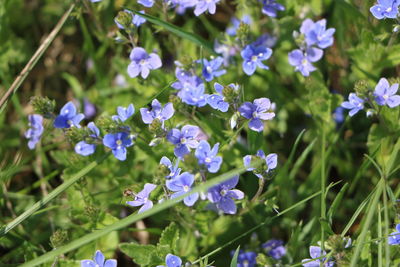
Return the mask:
[(400, 105), (400, 96), (396, 95), (399, 84), (395, 83), (390, 86), (388, 80), (381, 78), (375, 87), (374, 96), (378, 105), (387, 105), (390, 108)]

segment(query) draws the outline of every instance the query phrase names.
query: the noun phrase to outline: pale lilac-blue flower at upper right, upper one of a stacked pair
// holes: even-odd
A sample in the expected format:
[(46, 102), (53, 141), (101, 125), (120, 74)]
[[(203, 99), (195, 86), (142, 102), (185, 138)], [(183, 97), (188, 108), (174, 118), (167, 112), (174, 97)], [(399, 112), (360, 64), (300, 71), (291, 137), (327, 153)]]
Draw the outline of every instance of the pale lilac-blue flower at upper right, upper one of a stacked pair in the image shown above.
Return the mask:
[(301, 25), (300, 32), (305, 35), (308, 46), (317, 45), (319, 48), (325, 49), (333, 44), (335, 29), (326, 29), (325, 19), (317, 22), (306, 19)]

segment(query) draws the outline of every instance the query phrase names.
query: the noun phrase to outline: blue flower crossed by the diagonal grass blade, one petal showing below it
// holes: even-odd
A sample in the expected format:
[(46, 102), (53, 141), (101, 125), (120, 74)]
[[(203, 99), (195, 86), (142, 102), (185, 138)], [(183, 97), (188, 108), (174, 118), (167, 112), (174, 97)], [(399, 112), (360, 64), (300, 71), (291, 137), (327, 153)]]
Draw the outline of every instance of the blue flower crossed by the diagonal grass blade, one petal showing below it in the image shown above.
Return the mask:
[[(171, 195), (171, 198), (180, 197), (191, 191), (194, 183), (194, 176), (188, 172), (184, 172), (181, 175), (176, 176), (174, 179), (167, 180), (166, 186), (169, 190), (175, 192)], [(183, 199), (186, 206), (193, 206), (199, 198), (199, 193), (193, 193)]]

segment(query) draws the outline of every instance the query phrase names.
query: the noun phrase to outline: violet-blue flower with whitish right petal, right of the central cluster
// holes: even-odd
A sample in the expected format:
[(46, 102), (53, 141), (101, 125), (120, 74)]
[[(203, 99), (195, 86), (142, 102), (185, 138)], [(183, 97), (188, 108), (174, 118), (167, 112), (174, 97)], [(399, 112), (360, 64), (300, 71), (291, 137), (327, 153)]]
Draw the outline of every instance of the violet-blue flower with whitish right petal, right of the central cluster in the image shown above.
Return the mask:
[(271, 101), (265, 97), (255, 99), (253, 103), (244, 102), (238, 111), (240, 115), (250, 119), (249, 128), (256, 132), (264, 129), (263, 120), (272, 120), (275, 117), (271, 109)]

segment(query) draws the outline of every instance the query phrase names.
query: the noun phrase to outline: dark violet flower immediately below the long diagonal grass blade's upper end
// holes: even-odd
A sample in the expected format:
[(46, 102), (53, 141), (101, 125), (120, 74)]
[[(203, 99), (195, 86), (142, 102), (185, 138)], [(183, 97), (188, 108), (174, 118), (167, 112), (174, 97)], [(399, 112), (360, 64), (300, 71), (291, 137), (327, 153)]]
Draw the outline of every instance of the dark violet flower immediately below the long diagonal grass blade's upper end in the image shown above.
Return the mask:
[(239, 182), (239, 175), (222, 182), (208, 190), (207, 198), (214, 203), (217, 209), (226, 214), (236, 214), (237, 208), (234, 199), (243, 199), (244, 193), (233, 189)]

